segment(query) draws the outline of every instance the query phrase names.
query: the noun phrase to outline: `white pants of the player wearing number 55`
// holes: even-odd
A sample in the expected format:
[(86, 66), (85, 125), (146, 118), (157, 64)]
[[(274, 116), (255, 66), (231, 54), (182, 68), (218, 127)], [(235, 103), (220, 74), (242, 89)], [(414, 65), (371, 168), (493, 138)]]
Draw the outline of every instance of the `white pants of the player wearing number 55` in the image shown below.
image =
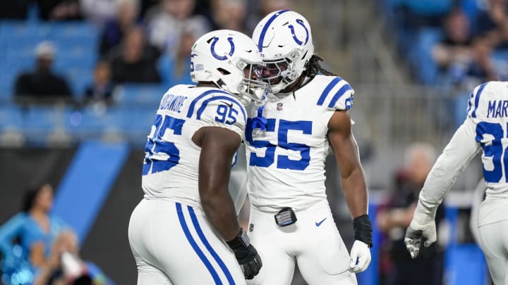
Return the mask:
[(279, 227), (273, 213), (250, 207), (248, 235), (263, 265), (247, 284), (289, 285), (295, 262), (310, 285), (356, 285), (349, 272), (349, 253), (335, 225), (329, 206), (296, 212), (297, 222)]

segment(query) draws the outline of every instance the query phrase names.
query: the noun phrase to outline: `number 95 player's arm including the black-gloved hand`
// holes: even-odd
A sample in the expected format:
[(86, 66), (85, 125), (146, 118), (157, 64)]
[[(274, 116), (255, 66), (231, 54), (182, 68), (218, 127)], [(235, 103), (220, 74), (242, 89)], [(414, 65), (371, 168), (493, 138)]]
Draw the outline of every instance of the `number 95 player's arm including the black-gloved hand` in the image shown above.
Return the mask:
[(202, 127), (193, 135), (193, 141), (201, 147), (198, 187), (205, 215), (234, 251), (246, 279), (253, 279), (262, 261), (236, 219), (228, 189), (231, 162), (241, 138), (222, 127)]

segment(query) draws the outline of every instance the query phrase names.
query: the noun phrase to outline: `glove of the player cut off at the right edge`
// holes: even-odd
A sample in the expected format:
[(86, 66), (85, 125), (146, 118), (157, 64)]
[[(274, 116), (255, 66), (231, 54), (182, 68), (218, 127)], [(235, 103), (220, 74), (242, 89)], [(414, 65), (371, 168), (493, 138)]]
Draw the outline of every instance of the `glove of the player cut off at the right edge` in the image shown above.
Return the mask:
[(413, 220), (406, 230), (404, 243), (411, 254), (411, 258), (416, 258), (420, 253), (421, 241), (424, 239), (423, 246), (428, 248), (437, 239), (435, 227), (435, 214), (424, 213), (420, 207), (416, 207)]

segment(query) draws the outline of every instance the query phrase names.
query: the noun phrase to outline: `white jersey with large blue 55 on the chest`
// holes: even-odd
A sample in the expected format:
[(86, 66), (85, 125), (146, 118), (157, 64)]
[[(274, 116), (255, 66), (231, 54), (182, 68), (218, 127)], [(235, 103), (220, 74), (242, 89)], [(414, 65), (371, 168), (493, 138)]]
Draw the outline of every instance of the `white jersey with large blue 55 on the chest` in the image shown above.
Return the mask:
[[(263, 211), (297, 210), (326, 201), (328, 122), (348, 110), (353, 89), (340, 77), (316, 75), (293, 94), (253, 108), (246, 126), (248, 195)], [(258, 113), (266, 118), (257, 125)]]

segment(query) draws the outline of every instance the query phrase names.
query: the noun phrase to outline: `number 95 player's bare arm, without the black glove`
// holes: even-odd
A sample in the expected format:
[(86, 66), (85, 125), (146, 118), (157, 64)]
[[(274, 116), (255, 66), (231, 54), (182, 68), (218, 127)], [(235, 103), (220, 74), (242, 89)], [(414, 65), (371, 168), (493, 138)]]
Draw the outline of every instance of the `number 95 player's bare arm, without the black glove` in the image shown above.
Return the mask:
[(222, 239), (230, 241), (240, 232), (228, 183), (241, 138), (222, 127), (202, 127), (193, 135), (193, 141), (201, 147), (198, 185), (202, 208)]

